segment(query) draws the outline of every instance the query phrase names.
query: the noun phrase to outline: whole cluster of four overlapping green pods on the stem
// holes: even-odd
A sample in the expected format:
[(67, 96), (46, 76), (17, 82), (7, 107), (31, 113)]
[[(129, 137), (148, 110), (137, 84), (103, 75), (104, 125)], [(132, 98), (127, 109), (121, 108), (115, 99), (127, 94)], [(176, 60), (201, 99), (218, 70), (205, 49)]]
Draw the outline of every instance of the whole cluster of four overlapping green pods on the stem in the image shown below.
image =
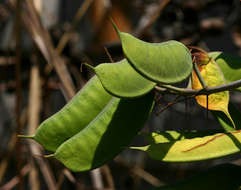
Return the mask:
[[(117, 30), (126, 59), (100, 64), (86, 86), (30, 137), (72, 171), (113, 159), (144, 126), (157, 83), (176, 83), (191, 74), (188, 49), (177, 41), (147, 43)], [(23, 136), (22, 136), (23, 137)]]

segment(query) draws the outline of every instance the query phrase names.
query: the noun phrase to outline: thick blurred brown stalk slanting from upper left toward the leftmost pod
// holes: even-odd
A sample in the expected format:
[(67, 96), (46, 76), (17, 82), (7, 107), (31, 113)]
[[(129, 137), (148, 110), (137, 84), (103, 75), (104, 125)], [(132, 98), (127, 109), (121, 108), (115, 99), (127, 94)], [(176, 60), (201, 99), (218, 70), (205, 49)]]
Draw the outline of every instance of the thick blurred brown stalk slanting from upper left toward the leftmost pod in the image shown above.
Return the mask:
[[(71, 99), (75, 94), (75, 87), (67, 67), (61, 57), (56, 53), (50, 35), (43, 27), (32, 0), (23, 2), (25, 5), (25, 11), (21, 12), (23, 24), (44, 58), (49, 64), (53, 64), (62, 83), (61, 90), (63, 94), (67, 99)], [(9, 5), (12, 9), (16, 7), (14, 0), (9, 0)]]

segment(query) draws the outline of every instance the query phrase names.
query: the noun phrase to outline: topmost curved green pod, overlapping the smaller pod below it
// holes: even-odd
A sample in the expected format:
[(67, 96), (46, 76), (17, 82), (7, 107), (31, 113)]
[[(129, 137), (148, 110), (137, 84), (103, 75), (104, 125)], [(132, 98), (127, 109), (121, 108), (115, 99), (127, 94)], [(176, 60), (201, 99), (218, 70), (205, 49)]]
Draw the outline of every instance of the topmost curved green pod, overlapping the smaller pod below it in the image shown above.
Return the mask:
[(126, 58), (143, 76), (154, 82), (171, 84), (183, 81), (191, 74), (191, 54), (182, 43), (174, 40), (148, 43), (114, 27)]

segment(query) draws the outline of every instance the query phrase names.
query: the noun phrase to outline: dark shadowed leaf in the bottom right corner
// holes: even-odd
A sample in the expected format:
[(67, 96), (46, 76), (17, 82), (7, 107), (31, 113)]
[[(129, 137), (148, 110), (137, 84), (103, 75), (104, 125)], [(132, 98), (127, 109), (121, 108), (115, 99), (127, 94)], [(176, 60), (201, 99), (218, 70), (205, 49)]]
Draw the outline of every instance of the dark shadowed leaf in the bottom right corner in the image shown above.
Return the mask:
[(241, 185), (241, 167), (222, 164), (212, 167), (176, 184), (153, 190), (238, 190)]

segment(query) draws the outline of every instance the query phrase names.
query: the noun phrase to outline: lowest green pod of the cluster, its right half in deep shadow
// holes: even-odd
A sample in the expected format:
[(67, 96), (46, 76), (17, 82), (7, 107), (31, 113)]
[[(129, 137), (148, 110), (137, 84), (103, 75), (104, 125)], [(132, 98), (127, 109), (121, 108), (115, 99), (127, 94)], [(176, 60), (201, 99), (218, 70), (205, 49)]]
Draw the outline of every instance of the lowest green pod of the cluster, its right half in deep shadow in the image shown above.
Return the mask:
[(136, 99), (113, 98), (95, 120), (52, 156), (76, 172), (103, 165), (125, 149), (144, 126), (153, 100), (153, 93)]

